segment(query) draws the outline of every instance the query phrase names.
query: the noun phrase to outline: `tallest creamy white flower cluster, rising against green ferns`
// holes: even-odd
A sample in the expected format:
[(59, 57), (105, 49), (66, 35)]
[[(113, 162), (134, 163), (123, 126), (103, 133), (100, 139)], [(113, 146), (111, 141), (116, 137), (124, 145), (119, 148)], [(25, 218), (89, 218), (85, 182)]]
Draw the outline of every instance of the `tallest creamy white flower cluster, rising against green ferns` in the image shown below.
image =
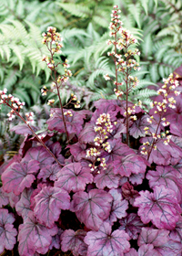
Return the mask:
[[(120, 21), (120, 16), (118, 15), (121, 11), (118, 9), (117, 5), (114, 5), (114, 10), (111, 14), (111, 23), (109, 25), (110, 33), (109, 36), (113, 37), (106, 41), (107, 45), (114, 45), (115, 50), (113, 52), (108, 52), (108, 56), (111, 56), (116, 64), (116, 72), (123, 72), (124, 75), (128, 75), (131, 69), (139, 70), (139, 64), (134, 59), (134, 56), (140, 55), (140, 52), (137, 48), (134, 50), (130, 46), (137, 43), (136, 38), (128, 31), (126, 28), (122, 27), (123, 23)], [(117, 50), (123, 50), (123, 55), (118, 54)], [(106, 80), (110, 80), (108, 74), (104, 75)], [(129, 76), (127, 78), (128, 87), (134, 88), (138, 84), (136, 77)], [(114, 81), (116, 85), (115, 94), (116, 97), (123, 95), (123, 91), (118, 89), (118, 86), (122, 86), (123, 82), (119, 83), (117, 79)]]

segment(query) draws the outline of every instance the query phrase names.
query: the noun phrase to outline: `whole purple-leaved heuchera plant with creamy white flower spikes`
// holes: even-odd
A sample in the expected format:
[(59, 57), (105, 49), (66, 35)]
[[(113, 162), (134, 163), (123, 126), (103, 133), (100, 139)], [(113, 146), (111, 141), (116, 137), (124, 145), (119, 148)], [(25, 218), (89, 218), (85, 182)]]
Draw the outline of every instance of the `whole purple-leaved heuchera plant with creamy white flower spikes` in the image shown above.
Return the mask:
[[(33, 113), (21, 114), (24, 103), (0, 91), (9, 120), (23, 122), (13, 131), (25, 135), (19, 155), (1, 166), (0, 253), (15, 246), (20, 256), (182, 253), (181, 89), (170, 74), (148, 112), (141, 101), (127, 101), (138, 82), (131, 72), (139, 69), (139, 51), (118, 13), (115, 5), (107, 41), (116, 77), (105, 76), (114, 80), (116, 100), (96, 101), (92, 112), (62, 105), (71, 71), (57, 54), (63, 45), (55, 27), (43, 35), (53, 84), (42, 94), (55, 92), (60, 104), (48, 101), (47, 131), (39, 133)], [(80, 105), (74, 93), (69, 103)]]

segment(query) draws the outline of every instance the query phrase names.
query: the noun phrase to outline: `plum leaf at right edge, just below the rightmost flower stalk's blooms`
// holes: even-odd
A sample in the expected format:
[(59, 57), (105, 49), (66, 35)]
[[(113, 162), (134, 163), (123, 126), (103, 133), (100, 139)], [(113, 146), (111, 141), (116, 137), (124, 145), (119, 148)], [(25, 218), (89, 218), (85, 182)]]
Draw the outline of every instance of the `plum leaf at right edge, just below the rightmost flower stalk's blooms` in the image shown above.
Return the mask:
[[(140, 139), (140, 143), (142, 144), (147, 142), (149, 142), (149, 144), (152, 144), (153, 138), (147, 137)], [(148, 162), (154, 162), (157, 165), (176, 165), (181, 159), (182, 149), (178, 147), (172, 140), (170, 140), (168, 144), (164, 144), (164, 142), (165, 139), (163, 138), (157, 140), (157, 149), (152, 150)], [(141, 150), (141, 147), (139, 148), (139, 150)], [(150, 146), (148, 146), (148, 151), (149, 150)]]

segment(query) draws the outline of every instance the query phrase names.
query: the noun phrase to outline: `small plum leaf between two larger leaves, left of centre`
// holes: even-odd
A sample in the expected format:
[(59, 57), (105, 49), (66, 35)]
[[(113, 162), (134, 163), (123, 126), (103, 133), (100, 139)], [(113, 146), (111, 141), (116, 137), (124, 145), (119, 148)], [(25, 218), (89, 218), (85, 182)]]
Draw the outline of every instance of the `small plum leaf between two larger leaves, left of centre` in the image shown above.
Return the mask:
[(61, 167), (60, 165), (58, 164), (55, 164), (55, 165), (46, 165), (45, 167), (43, 167), (37, 178), (39, 179), (43, 179), (43, 181), (45, 182), (46, 179), (48, 178), (49, 180), (53, 180), (53, 181), (56, 181), (56, 178), (57, 178), (57, 174), (58, 172), (61, 170)]

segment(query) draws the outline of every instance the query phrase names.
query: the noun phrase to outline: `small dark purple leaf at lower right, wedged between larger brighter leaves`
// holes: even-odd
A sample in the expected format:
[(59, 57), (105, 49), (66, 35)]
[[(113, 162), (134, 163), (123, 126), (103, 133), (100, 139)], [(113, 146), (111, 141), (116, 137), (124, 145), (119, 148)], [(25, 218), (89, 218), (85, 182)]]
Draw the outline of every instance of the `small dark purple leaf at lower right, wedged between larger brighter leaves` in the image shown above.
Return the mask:
[(125, 230), (132, 240), (138, 238), (142, 227), (144, 227), (144, 223), (142, 223), (141, 219), (134, 212), (129, 213), (126, 218), (120, 219), (119, 223), (121, 225), (119, 229)]

